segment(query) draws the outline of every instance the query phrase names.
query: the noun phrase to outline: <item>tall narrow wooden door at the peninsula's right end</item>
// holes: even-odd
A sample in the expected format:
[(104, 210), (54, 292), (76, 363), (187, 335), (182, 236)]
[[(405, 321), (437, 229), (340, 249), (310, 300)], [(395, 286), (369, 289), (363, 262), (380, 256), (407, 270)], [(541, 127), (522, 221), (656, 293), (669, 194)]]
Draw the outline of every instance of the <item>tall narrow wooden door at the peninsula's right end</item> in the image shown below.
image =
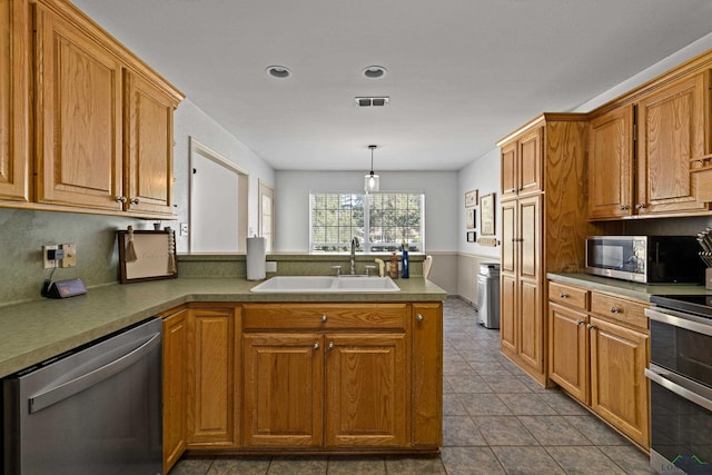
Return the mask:
[(413, 304), (413, 445), (443, 445), (443, 304)]

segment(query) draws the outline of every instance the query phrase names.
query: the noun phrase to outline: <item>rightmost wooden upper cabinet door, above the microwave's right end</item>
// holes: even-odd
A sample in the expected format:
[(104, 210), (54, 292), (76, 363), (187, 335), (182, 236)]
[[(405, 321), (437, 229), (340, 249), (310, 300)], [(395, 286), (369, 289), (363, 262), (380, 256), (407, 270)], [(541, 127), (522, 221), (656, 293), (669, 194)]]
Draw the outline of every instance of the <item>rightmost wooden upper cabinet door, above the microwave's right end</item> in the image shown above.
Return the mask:
[(637, 106), (639, 214), (706, 209), (695, 199), (690, 159), (706, 152), (704, 76), (645, 96)]

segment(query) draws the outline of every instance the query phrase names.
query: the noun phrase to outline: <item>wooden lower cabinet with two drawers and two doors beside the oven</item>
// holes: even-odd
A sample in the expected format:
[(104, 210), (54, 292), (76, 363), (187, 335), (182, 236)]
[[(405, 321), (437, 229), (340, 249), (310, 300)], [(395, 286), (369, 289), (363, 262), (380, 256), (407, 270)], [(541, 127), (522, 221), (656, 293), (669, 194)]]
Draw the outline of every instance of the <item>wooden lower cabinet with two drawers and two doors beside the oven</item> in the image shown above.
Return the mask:
[(550, 378), (649, 449), (645, 305), (558, 283), (548, 298)]

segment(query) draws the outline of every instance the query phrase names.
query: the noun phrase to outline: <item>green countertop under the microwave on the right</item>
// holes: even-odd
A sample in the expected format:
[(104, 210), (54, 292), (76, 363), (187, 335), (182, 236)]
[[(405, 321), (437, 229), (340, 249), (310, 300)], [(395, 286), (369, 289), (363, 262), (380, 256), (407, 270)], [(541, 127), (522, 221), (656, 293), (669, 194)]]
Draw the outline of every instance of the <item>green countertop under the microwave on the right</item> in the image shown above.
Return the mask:
[(703, 285), (685, 284), (635, 284), (626, 280), (613, 279), (610, 277), (592, 276), (590, 274), (556, 274), (546, 275), (550, 280), (563, 284), (577, 285), (591, 290), (607, 291), (621, 297), (634, 298), (636, 300), (650, 301), (653, 295), (712, 295), (712, 290), (705, 290)]

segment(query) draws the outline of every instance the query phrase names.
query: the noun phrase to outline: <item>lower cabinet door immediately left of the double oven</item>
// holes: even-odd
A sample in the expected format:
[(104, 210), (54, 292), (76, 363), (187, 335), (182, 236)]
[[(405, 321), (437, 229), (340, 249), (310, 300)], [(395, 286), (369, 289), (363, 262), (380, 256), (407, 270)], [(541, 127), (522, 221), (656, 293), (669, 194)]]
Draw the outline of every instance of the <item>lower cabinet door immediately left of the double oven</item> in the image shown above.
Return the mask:
[(591, 325), (591, 408), (649, 447), (649, 337), (600, 318)]

